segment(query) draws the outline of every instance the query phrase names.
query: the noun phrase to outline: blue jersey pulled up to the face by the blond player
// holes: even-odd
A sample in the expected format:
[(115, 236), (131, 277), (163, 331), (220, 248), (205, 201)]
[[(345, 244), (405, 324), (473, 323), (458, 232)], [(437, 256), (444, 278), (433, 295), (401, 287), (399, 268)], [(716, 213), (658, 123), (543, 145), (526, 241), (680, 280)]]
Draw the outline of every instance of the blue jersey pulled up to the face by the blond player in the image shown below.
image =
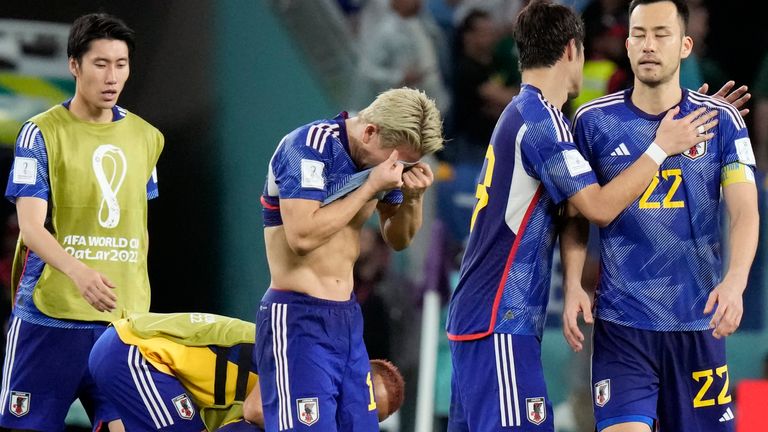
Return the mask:
[[(318, 120), (295, 129), (280, 141), (269, 161), (261, 195), (265, 227), (283, 224), (280, 199), (322, 202), (361, 171), (363, 167), (358, 168), (349, 154), (346, 119), (347, 113), (343, 112), (332, 120)], [(403, 194), (393, 190), (382, 201), (400, 204)]]

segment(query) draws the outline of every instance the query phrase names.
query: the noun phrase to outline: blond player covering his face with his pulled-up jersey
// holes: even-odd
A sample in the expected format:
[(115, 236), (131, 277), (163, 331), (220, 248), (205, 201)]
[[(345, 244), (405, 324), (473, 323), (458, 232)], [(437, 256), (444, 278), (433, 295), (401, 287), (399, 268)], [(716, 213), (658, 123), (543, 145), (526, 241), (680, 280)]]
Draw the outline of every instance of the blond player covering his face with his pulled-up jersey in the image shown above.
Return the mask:
[[(301, 126), (278, 145), (261, 198), (272, 280), (254, 349), (267, 430), (378, 430), (352, 295), (359, 234), (376, 209), (390, 247), (411, 242), (433, 180), (419, 159), (442, 146), (434, 101), (408, 88), (381, 93), (355, 117)], [(356, 179), (365, 181), (334, 200)], [(318, 416), (303, 415), (309, 405)]]

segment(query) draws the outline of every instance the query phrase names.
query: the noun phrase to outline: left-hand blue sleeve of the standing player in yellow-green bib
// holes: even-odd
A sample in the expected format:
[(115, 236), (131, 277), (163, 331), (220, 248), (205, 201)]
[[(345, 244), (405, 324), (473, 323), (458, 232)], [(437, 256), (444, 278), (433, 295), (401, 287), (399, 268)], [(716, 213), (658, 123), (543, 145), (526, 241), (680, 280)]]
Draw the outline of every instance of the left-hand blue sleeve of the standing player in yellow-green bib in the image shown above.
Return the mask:
[(48, 153), (40, 128), (32, 122), (24, 123), (14, 148), (14, 159), (8, 175), (5, 197), (12, 203), (21, 197), (35, 197), (48, 201)]

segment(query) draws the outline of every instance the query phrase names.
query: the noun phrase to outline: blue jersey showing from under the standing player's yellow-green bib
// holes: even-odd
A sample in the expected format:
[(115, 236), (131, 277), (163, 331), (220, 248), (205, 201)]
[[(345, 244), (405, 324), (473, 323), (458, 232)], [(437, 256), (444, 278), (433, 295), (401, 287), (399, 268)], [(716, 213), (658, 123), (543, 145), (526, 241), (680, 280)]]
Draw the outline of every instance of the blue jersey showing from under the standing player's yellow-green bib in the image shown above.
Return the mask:
[[(71, 100), (62, 105), (69, 108)], [(125, 109), (115, 105), (112, 108), (112, 121), (118, 121), (126, 115)], [(48, 153), (45, 149), (45, 138), (40, 129), (34, 123), (27, 122), (21, 127), (19, 135), (16, 138), (15, 157), (32, 158), (37, 161), (37, 177), (34, 184), (15, 183), (13, 173), (15, 168), (11, 167), (11, 173), (8, 176), (8, 186), (5, 189), (5, 197), (15, 203), (17, 198), (34, 197), (48, 201), (51, 192), (51, 185), (48, 177)], [(23, 160), (23, 159), (22, 159)], [(158, 196), (157, 174), (152, 172), (152, 177), (147, 181), (147, 199), (153, 199)], [(88, 323), (85, 321), (60, 320), (49, 317), (40, 312), (32, 301), (32, 292), (35, 289), (37, 280), (43, 273), (45, 262), (36, 253), (29, 251), (24, 264), (24, 273), (19, 281), (14, 299), (13, 313), (26, 322), (45, 325), (49, 327), (61, 328), (101, 328), (102, 324)]]

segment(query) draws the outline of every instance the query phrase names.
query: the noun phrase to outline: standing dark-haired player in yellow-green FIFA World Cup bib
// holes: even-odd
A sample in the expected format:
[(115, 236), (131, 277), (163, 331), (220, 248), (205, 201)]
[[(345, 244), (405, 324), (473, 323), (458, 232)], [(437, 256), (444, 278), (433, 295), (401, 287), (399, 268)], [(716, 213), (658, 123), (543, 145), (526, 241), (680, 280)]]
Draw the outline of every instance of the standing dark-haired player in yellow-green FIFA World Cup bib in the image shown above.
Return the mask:
[(75, 20), (67, 45), (75, 96), (32, 117), (16, 140), (6, 197), (21, 233), (0, 426), (63, 430), (78, 397), (95, 427), (117, 418), (88, 354), (121, 312), (149, 309), (147, 200), (157, 195), (164, 143), (116, 105), (133, 47), (133, 30), (115, 17)]

